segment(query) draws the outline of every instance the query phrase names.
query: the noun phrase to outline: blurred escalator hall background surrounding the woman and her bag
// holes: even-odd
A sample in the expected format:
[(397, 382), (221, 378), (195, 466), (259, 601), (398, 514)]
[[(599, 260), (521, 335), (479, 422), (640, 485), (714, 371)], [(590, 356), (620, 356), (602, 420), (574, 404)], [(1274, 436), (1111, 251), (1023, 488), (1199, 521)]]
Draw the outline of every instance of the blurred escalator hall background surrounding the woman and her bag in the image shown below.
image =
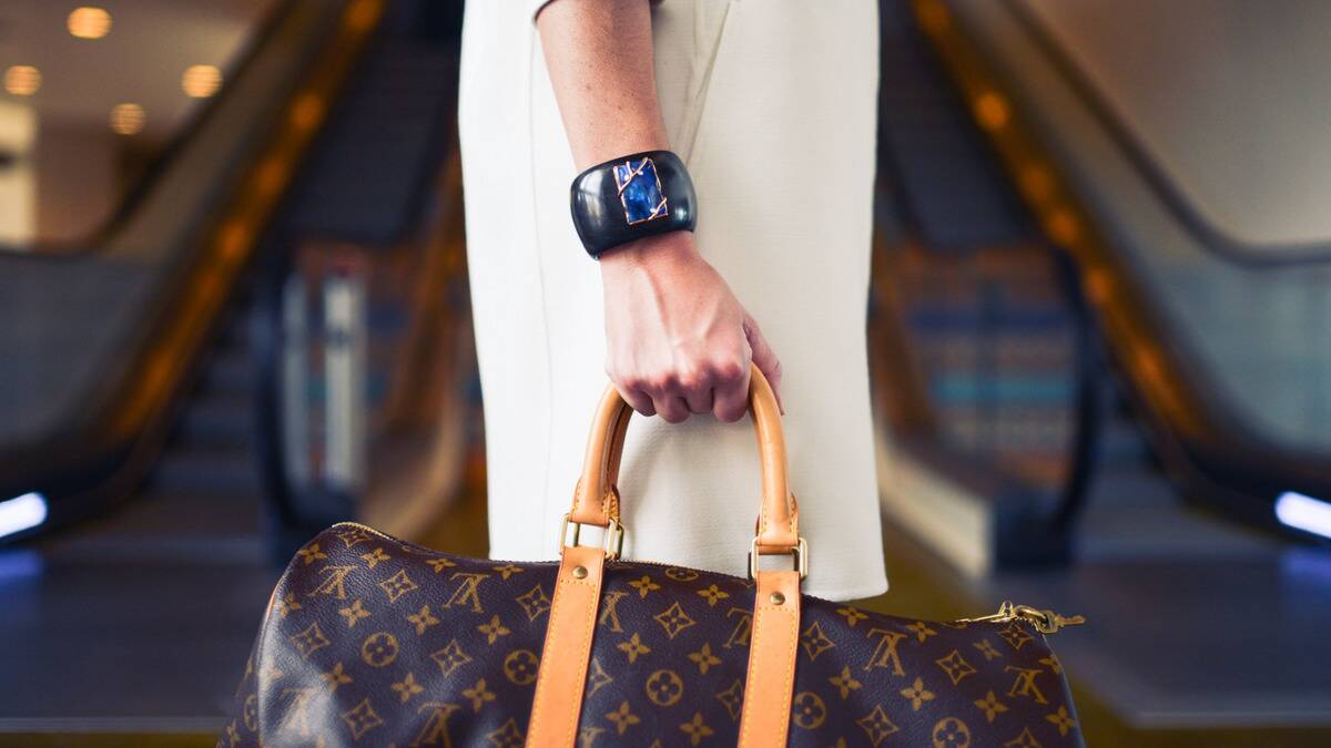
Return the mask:
[[(461, 15), (0, 5), (0, 745), (212, 745), (331, 522), (486, 552)], [(1085, 615), (1093, 745), (1331, 745), (1331, 3), (881, 27), (866, 604)]]

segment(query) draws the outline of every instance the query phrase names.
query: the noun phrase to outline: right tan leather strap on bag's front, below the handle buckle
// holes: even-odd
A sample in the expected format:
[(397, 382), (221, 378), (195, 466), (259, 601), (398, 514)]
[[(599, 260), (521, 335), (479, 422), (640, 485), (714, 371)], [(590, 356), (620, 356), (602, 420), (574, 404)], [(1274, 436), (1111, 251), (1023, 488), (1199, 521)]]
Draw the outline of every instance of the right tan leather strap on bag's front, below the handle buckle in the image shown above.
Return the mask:
[(800, 574), (759, 571), (740, 748), (785, 745), (800, 647)]

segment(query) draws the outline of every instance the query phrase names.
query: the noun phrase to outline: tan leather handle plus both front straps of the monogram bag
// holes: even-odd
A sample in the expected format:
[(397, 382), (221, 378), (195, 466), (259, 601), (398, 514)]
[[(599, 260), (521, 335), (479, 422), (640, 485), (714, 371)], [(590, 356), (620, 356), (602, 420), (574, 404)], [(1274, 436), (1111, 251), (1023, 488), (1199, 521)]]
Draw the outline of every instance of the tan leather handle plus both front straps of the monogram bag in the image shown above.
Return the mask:
[[(781, 413), (771, 385), (756, 366), (749, 378), (749, 413), (763, 463), (763, 506), (752, 544), (756, 555), (749, 559), (756, 590), (740, 745), (765, 748), (785, 745), (799, 652), (800, 579), (807, 556), (799, 534), (799, 510), (787, 483)], [(594, 524), (607, 532), (622, 532), (615, 480), (631, 414), (615, 387), (608, 387), (587, 439), (583, 474), (564, 531), (568, 523), (575, 523), (575, 527)], [(604, 562), (615, 552), (608, 535), (604, 548), (579, 546), (576, 531), (572, 544), (567, 544), (567, 535), (559, 542), (559, 576), (527, 729), (530, 748), (572, 748), (576, 743)], [(797, 570), (757, 568), (757, 556), (779, 554), (795, 556)]]

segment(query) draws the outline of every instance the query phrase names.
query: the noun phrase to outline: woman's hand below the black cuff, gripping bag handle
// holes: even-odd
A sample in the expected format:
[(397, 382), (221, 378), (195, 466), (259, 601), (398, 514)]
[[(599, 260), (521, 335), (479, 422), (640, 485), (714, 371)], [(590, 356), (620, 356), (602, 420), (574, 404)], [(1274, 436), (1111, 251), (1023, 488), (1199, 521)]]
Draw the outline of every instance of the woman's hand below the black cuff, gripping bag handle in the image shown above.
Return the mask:
[(600, 258), (606, 373), (643, 415), (679, 423), (691, 413), (739, 421), (749, 362), (780, 402), (781, 362), (689, 232), (647, 237)]

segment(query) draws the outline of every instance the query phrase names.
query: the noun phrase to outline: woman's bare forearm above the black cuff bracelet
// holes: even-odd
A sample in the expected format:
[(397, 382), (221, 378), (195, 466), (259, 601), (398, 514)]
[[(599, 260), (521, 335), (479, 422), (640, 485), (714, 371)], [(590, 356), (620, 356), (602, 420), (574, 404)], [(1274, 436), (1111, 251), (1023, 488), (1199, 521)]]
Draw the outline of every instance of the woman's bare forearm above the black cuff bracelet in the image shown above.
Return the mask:
[(647, 0), (555, 0), (536, 28), (579, 170), (669, 148)]

